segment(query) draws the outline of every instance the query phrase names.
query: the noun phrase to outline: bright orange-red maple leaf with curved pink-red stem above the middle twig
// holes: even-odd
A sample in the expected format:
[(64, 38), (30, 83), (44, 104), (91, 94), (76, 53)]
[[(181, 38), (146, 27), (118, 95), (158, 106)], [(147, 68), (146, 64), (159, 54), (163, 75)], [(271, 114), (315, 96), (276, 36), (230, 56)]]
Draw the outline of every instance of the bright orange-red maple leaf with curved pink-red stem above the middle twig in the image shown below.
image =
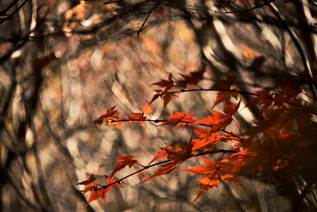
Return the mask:
[(241, 103), (241, 99), (238, 104), (233, 104), (226, 101), (226, 105), (224, 106), (224, 109), (223, 109), (223, 112), (225, 112), (225, 114), (212, 111), (214, 116), (208, 116), (207, 118), (194, 122), (191, 125), (194, 125), (194, 124), (213, 125), (210, 132), (216, 132), (221, 129), (225, 130), (226, 127), (232, 122), (231, 116), (238, 111), (240, 103)]

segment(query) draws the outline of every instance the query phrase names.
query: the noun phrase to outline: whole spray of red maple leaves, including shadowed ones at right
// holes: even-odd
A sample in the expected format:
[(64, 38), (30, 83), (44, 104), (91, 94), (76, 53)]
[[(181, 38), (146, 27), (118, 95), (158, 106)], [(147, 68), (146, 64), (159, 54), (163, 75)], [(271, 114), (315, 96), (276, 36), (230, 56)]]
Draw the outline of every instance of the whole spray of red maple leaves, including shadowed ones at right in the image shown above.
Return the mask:
[[(203, 66), (201, 70), (191, 73), (190, 76), (182, 75), (184, 80), (181, 81), (174, 82), (170, 74), (168, 80), (154, 83), (165, 88), (165, 90), (159, 90), (159, 92), (156, 90), (158, 94), (153, 97), (152, 101), (161, 96), (163, 100), (167, 99), (166, 102), (168, 103), (170, 97), (174, 95), (169, 92), (170, 89), (176, 87), (174, 83), (178, 83), (177, 86), (182, 88), (189, 84), (190, 88), (192, 88), (202, 79), (204, 70), (205, 67)], [(206, 175), (197, 181), (200, 183), (200, 191), (192, 203), (204, 192), (212, 189), (214, 186), (218, 187), (220, 179), (243, 186), (239, 182), (237, 175), (250, 169), (253, 169), (253, 176), (259, 172), (263, 172), (268, 182), (271, 181), (273, 176), (279, 176), (281, 179), (295, 182), (294, 177), (298, 175), (308, 180), (317, 181), (317, 176), (311, 175), (311, 169), (316, 169), (315, 167), (317, 167), (317, 161), (314, 157), (316, 155), (315, 149), (317, 148), (317, 123), (312, 121), (313, 115), (315, 116), (316, 114), (315, 106), (317, 102), (302, 103), (298, 97), (301, 92), (305, 92), (303, 87), (311, 82), (305, 79), (283, 78), (277, 80), (274, 83), (274, 87), (256, 91), (256, 94), (254, 94), (255, 97), (247, 103), (247, 106), (252, 104), (259, 105), (261, 107), (260, 115), (262, 114), (265, 118), (255, 122), (256, 126), (249, 128), (241, 135), (242, 138), (240, 138), (232, 134), (232, 132), (225, 131), (227, 126), (232, 123), (234, 119), (233, 115), (237, 113), (241, 104), (241, 99), (238, 103), (229, 102), (231, 97), (237, 100), (240, 95), (238, 89), (232, 88), (235, 79), (236, 77), (234, 76), (227, 76), (225, 80), (217, 82), (211, 88), (211, 90), (220, 91), (213, 107), (221, 102), (225, 102), (223, 113), (213, 111), (212, 116), (197, 120), (191, 113), (185, 114), (173, 111), (173, 116), (159, 125), (173, 125), (171, 130), (186, 125), (188, 129), (192, 129), (197, 139), (193, 139), (192, 136), (187, 147), (182, 150), (173, 149), (173, 147), (160, 148), (162, 151), (158, 152), (147, 166), (142, 166), (144, 168), (142, 170), (154, 166), (155, 164), (150, 164), (164, 157), (168, 160), (165, 161), (164, 165), (161, 165), (162, 168), (158, 169), (151, 177), (143, 179), (140, 183), (157, 176), (169, 174), (181, 163), (197, 156), (201, 157), (205, 166), (197, 165), (197, 167), (192, 169), (178, 170), (188, 171), (197, 175)], [(166, 104), (164, 103), (164, 108)], [(130, 121), (139, 122), (142, 126), (144, 123), (143, 120), (146, 120), (143, 113), (133, 113), (134, 116), (126, 116), (125, 120), (120, 119), (119, 121), (117, 115), (121, 113), (113, 109), (114, 107), (91, 123), (99, 125), (103, 122), (110, 126), (113, 123)], [(110, 121), (106, 122), (106, 119)], [(157, 120), (147, 121), (156, 122)], [(199, 128), (199, 125), (204, 126), (204, 129)], [(223, 132), (227, 134), (223, 135)], [(214, 145), (218, 142), (232, 140), (235, 140), (236, 144), (231, 150), (213, 149)], [(222, 157), (219, 162), (203, 157), (203, 155), (215, 152), (223, 152), (223, 156), (229, 152), (234, 154)], [(136, 160), (133, 160), (133, 156), (120, 156), (118, 158), (122, 161), (117, 162), (110, 177), (106, 176), (112, 182), (108, 182), (106, 184), (108, 186), (100, 188), (98, 185), (93, 185), (96, 179), (93, 175), (89, 180), (77, 184), (85, 185), (85, 189), (82, 190), (84, 193), (93, 191), (94, 195), (91, 195), (88, 204), (100, 197), (105, 201), (106, 193), (114, 187), (114, 184), (121, 187), (121, 184), (115, 183), (116, 180), (112, 178), (115, 173), (126, 166), (131, 168), (137, 163)]]

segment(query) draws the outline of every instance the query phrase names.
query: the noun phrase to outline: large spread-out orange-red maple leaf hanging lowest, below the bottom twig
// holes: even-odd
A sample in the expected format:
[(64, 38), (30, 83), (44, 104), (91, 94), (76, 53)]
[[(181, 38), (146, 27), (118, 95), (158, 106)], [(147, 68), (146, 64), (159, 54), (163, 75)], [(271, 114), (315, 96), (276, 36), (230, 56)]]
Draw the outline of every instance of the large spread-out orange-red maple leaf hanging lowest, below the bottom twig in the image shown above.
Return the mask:
[[(205, 193), (208, 190), (211, 190), (214, 186), (218, 187), (219, 186), (219, 177), (223, 181), (228, 181), (228, 182), (234, 182), (238, 185), (241, 185), (241, 182), (234, 176), (226, 166), (222, 166), (223, 163), (219, 162), (213, 162), (212, 160), (208, 160), (202, 156), (200, 156), (201, 159), (204, 161), (206, 166), (200, 166), (197, 165), (197, 167), (192, 168), (192, 169), (182, 169), (182, 170), (177, 170), (177, 171), (188, 171), (193, 174), (197, 175), (207, 175), (197, 182), (200, 182), (200, 191), (195, 198), (195, 200), (191, 203), (193, 204), (203, 193)], [(244, 186), (243, 186), (244, 187)], [(246, 187), (244, 187), (246, 188)]]

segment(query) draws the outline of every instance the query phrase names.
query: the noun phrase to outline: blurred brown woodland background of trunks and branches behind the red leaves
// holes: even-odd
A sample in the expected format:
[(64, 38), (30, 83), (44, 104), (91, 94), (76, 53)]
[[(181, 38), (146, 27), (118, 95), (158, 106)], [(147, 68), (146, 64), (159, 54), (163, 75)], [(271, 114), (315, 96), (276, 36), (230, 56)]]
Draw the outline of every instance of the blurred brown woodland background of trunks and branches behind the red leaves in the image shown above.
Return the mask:
[[(296, 185), (278, 178), (269, 185), (261, 174), (252, 180), (251, 173), (245, 174), (239, 179), (250, 190), (225, 182), (191, 206), (199, 176), (174, 171), (133, 187), (159, 167), (129, 177), (122, 182), (125, 189), (113, 189), (106, 203), (98, 200), (87, 208), (89, 194), (78, 192), (83, 186), (72, 189), (91, 173), (99, 176), (96, 182), (105, 183), (103, 175), (111, 174), (116, 156), (133, 155), (146, 165), (159, 147), (187, 145), (191, 129), (168, 132), (171, 126), (124, 123), (120, 131), (89, 124), (114, 105), (126, 116), (144, 112), (151, 119), (166, 120), (172, 111), (190, 112), (198, 119), (210, 116), (217, 94), (213, 91), (182, 93), (165, 111), (161, 99), (148, 106), (152, 90), (158, 88), (150, 85), (169, 73), (180, 80), (178, 73), (188, 75), (205, 62), (208, 69), (200, 87), (208, 89), (235, 74), (236, 85), (244, 91), (301, 76), (305, 70), (316, 76), (314, 0), (276, 0), (233, 14), (215, 13), (225, 11), (220, 3), (238, 11), (266, 1), (3, 0), (2, 211), (290, 211), (306, 185), (300, 178)], [(265, 60), (255, 63), (261, 56)], [(248, 98), (243, 97), (244, 105)], [(259, 109), (244, 105), (237, 119), (246, 130)], [(221, 111), (223, 104), (218, 106), (214, 110)], [(234, 124), (227, 129), (238, 133)], [(219, 160), (221, 155), (210, 157)], [(191, 159), (179, 169), (201, 163)], [(114, 177), (136, 170), (133, 166)], [(316, 210), (315, 187), (304, 199), (305, 211)]]

